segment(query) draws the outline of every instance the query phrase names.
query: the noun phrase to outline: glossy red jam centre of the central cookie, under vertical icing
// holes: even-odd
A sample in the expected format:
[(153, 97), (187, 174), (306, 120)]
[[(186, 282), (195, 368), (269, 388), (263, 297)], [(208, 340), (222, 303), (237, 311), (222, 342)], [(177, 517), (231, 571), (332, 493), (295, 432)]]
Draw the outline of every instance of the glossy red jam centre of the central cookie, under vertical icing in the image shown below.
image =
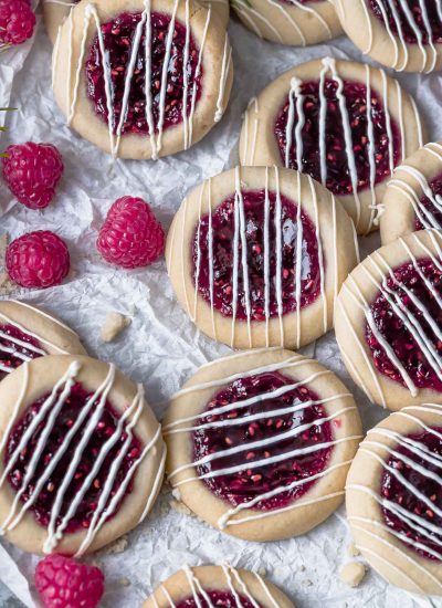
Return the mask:
[[(265, 319), (265, 290), (269, 289), (269, 316), (278, 315), (278, 296), (282, 292), (282, 313), (291, 313), (297, 307), (296, 268), (301, 263), (301, 308), (312, 304), (320, 292), (320, 261), (315, 227), (303, 211), (302, 254), (297, 260), (297, 206), (281, 197), (281, 265), (277, 260), (277, 232), (275, 227), (274, 192), (269, 193), (269, 244), (265, 251), (265, 191), (244, 191), (244, 232), (246, 249), (246, 268), (249, 275), (249, 297), (252, 321)], [(239, 213), (236, 214), (239, 216)], [(241, 228), (240, 220), (238, 226)], [(200, 295), (210, 303), (210, 218), (201, 219), (200, 229), (194, 232), (192, 243), (193, 280)], [(238, 231), (239, 233), (241, 230)], [(212, 252), (213, 252), (213, 306), (225, 316), (234, 314), (234, 235), (235, 235), (235, 197), (222, 202), (212, 214)], [(238, 238), (238, 298), (236, 318), (246, 319), (246, 295), (242, 265), (241, 237)], [(269, 260), (269, 274), (265, 281), (265, 259)], [(281, 290), (278, 290), (278, 275)]]

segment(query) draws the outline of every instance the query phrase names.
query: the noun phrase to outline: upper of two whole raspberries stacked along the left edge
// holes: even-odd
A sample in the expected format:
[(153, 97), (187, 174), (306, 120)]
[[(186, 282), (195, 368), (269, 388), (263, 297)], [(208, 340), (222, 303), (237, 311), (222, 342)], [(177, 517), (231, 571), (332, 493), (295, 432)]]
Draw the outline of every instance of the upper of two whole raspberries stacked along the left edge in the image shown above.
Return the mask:
[(6, 155), (3, 178), (11, 192), (29, 209), (48, 207), (64, 169), (62, 156), (55, 146), (28, 141), (9, 146)]

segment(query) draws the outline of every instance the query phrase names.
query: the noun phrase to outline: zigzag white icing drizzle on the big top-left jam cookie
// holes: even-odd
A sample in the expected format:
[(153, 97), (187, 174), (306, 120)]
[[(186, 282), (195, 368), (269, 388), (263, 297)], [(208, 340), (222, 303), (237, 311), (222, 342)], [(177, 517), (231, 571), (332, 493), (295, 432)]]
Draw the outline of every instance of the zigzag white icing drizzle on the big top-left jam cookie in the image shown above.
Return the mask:
[[(48, 1), (54, 1), (54, 0), (48, 0)], [(165, 123), (165, 115), (166, 115), (166, 95), (167, 95), (167, 88), (169, 86), (168, 67), (169, 67), (169, 60), (171, 55), (171, 48), (173, 43), (173, 31), (175, 31), (175, 24), (177, 20), (177, 12), (178, 12), (180, 2), (185, 3), (185, 22), (186, 22), (185, 23), (186, 42), (182, 51), (183, 53), (183, 65), (182, 65), (183, 91), (182, 91), (181, 116), (182, 116), (182, 132), (183, 132), (183, 148), (188, 149), (192, 145), (192, 140), (193, 140), (193, 122), (194, 122), (196, 105), (197, 105), (197, 97), (198, 97), (197, 81), (201, 74), (203, 51), (206, 48), (208, 30), (210, 24), (213, 22), (213, 20), (211, 19), (212, 8), (209, 6), (207, 9), (207, 19), (206, 19), (203, 33), (202, 33), (201, 45), (199, 49), (198, 63), (193, 74), (192, 87), (191, 90), (189, 90), (189, 60), (190, 60), (190, 43), (191, 43), (190, 4), (189, 4), (189, 0), (173, 0), (173, 6), (171, 8), (170, 23), (167, 30), (166, 42), (165, 42), (166, 53), (165, 53), (165, 59), (162, 62), (162, 69), (161, 69), (161, 75), (160, 75), (158, 124), (155, 125), (154, 109), (152, 109), (154, 98), (150, 91), (151, 35), (152, 35), (151, 21), (150, 21), (151, 0), (144, 0), (145, 8), (141, 13), (141, 19), (138, 22), (134, 33), (130, 55), (129, 55), (128, 63), (126, 65), (124, 94), (122, 99), (122, 112), (120, 112), (118, 125), (116, 125), (115, 135), (114, 135), (115, 114), (114, 114), (114, 106), (113, 106), (113, 86), (112, 86), (112, 78), (110, 78), (110, 71), (109, 71), (110, 67), (109, 67), (108, 53), (105, 49), (104, 36), (101, 31), (102, 22), (98, 15), (98, 11), (93, 2), (90, 2), (86, 6), (85, 13), (84, 13), (83, 31), (81, 36), (80, 53), (76, 62), (74, 62), (74, 57), (73, 57), (73, 49), (74, 49), (73, 15), (74, 15), (75, 9), (72, 9), (70, 11), (67, 19), (71, 22), (71, 27), (69, 28), (69, 31), (67, 31), (69, 60), (67, 60), (67, 67), (66, 67), (67, 77), (66, 77), (66, 91), (65, 91), (66, 107), (67, 107), (67, 124), (72, 123), (77, 112), (78, 91), (80, 91), (80, 85), (82, 81), (82, 70), (84, 66), (87, 35), (90, 31), (91, 21), (93, 21), (95, 24), (95, 30), (98, 39), (98, 49), (99, 49), (99, 54), (101, 54), (102, 64), (103, 64), (103, 78), (104, 78), (104, 86), (105, 86), (105, 94), (106, 94), (106, 108), (107, 108), (107, 128), (108, 128), (108, 136), (109, 136), (110, 154), (113, 155), (114, 158), (118, 156), (122, 138), (124, 137), (123, 128), (124, 128), (124, 125), (127, 118), (127, 113), (129, 109), (130, 87), (131, 87), (133, 77), (136, 69), (136, 62), (137, 62), (139, 45), (141, 44), (143, 34), (145, 34), (146, 36), (145, 38), (145, 96), (146, 96), (145, 113), (146, 113), (146, 122), (148, 126), (147, 137), (150, 143), (151, 158), (154, 160), (157, 160), (160, 156), (160, 151), (162, 149), (164, 130), (165, 130), (164, 123)], [(66, 4), (66, 6), (71, 6), (71, 4)], [(57, 64), (57, 57), (60, 53), (60, 34), (61, 34), (61, 31), (59, 31), (57, 42), (54, 46), (54, 56), (53, 56), (54, 69)], [(224, 43), (222, 66), (221, 66), (219, 94), (218, 94), (215, 113), (213, 117), (213, 122), (215, 123), (221, 119), (223, 114), (225, 88), (227, 88), (228, 77), (231, 71), (231, 65), (232, 65), (232, 50), (229, 43), (229, 38), (227, 35), (225, 43)], [(71, 82), (72, 72), (75, 73), (75, 78), (73, 84)], [(189, 98), (190, 98), (190, 111), (189, 111)]]

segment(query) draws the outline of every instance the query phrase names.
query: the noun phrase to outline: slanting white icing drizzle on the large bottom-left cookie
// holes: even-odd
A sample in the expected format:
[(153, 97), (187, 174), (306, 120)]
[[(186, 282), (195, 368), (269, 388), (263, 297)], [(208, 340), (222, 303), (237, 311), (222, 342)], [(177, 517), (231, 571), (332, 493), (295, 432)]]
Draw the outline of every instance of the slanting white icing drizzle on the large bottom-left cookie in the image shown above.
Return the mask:
[[(9, 421), (8, 428), (6, 429), (2, 441), (0, 443), (0, 454), (4, 453), (4, 449), (6, 449), (10, 432), (12, 431), (13, 426), (18, 422), (19, 411), (21, 409), (24, 395), (27, 394), (27, 390), (29, 388), (28, 363), (25, 363), (22, 367), (23, 367), (23, 382), (22, 382), (21, 391), (15, 402), (15, 406), (13, 408), (13, 412)], [(113, 447), (122, 439), (123, 436), (126, 436), (126, 439), (120, 450), (118, 451), (117, 457), (115, 458), (115, 460), (113, 461), (109, 468), (105, 483), (103, 485), (103, 490), (99, 494), (98, 504), (94, 511), (90, 526), (86, 531), (86, 535), (76, 555), (82, 555), (83, 553), (85, 553), (87, 548), (91, 546), (91, 544), (94, 542), (99, 530), (106, 523), (107, 518), (115, 513), (118, 504), (124, 499), (127, 486), (129, 485), (139, 465), (147, 458), (148, 453), (154, 449), (156, 449), (155, 448), (156, 443), (161, 440), (161, 430), (160, 430), (160, 426), (158, 424), (157, 431), (155, 432), (154, 437), (144, 447), (140, 457), (131, 464), (123, 483), (119, 485), (114, 496), (110, 497), (110, 492), (114, 488), (115, 481), (123, 465), (124, 458), (128, 453), (131, 440), (134, 438), (133, 430), (138, 423), (139, 417), (141, 416), (143, 408), (144, 408), (144, 402), (145, 402), (144, 389), (141, 385), (138, 385), (138, 390), (133, 402), (130, 403), (130, 406), (128, 406), (124, 410), (123, 415), (119, 417), (114, 432), (108, 437), (108, 439), (101, 447), (90, 473), (81, 484), (75, 497), (69, 505), (67, 511), (64, 514), (62, 514), (62, 506), (63, 506), (65, 493), (70, 484), (72, 483), (76, 472), (78, 471), (78, 467), (82, 462), (84, 450), (86, 449), (88, 442), (91, 441), (94, 434), (95, 428), (101, 419), (101, 416), (104, 412), (104, 409), (106, 406), (106, 399), (115, 381), (115, 366), (109, 365), (105, 380), (95, 390), (94, 395), (88, 398), (84, 408), (82, 408), (78, 417), (75, 419), (73, 426), (66, 432), (63, 441), (60, 443), (59, 448), (54, 452), (52, 460), (44, 468), (44, 471), (41, 474), (41, 476), (36, 480), (35, 485), (32, 489), (29, 499), (22, 504), (20, 504), (23, 493), (28, 489), (29, 483), (33, 479), (35, 471), (40, 465), (40, 460), (44, 452), (48, 440), (51, 436), (52, 430), (55, 428), (57, 423), (59, 415), (61, 413), (66, 400), (71, 395), (72, 387), (76, 382), (76, 378), (80, 373), (80, 369), (81, 369), (81, 364), (78, 361), (73, 361), (69, 366), (67, 371), (54, 385), (51, 394), (43, 401), (39, 412), (34, 416), (29, 427), (25, 429), (17, 448), (9, 455), (9, 459), (3, 470), (3, 474), (0, 478), (0, 488), (1, 488), (4, 484), (7, 476), (10, 474), (11, 470), (17, 463), (19, 455), (23, 452), (23, 450), (28, 448), (29, 442), (31, 441), (35, 430), (44, 421), (43, 430), (39, 437), (34, 451), (27, 465), (23, 479), (21, 481), (20, 489), (15, 492), (15, 495), (11, 503), (11, 507), (8, 515), (1, 522), (0, 535), (4, 535), (8, 532), (12, 531), (22, 521), (25, 513), (38, 501), (41, 492), (44, 491), (44, 488), (51, 474), (55, 471), (57, 464), (66, 454), (67, 450), (72, 448), (75, 436), (77, 434), (80, 429), (84, 427), (83, 433), (81, 438), (77, 440), (72, 460), (67, 467), (63, 481), (60, 488), (56, 490), (54, 502), (50, 512), (48, 535), (43, 544), (44, 553), (52, 553), (53, 551), (56, 549), (57, 545), (63, 539), (64, 531), (66, 526), (69, 525), (71, 520), (75, 516), (75, 513), (77, 512), (77, 509), (81, 505), (82, 500), (84, 499), (90, 488), (94, 483), (96, 475), (99, 473), (101, 468), (107, 454), (113, 449)], [(141, 518), (144, 518), (147, 515), (147, 512), (151, 506), (151, 502), (155, 500), (156, 493), (158, 491), (159, 482), (162, 479), (165, 455), (166, 455), (166, 450), (164, 450), (164, 454), (161, 457), (161, 464), (157, 473), (154, 486), (148, 497), (146, 510)], [(108, 504), (106, 505), (106, 503)], [(59, 520), (60, 520), (60, 523), (57, 523)]]

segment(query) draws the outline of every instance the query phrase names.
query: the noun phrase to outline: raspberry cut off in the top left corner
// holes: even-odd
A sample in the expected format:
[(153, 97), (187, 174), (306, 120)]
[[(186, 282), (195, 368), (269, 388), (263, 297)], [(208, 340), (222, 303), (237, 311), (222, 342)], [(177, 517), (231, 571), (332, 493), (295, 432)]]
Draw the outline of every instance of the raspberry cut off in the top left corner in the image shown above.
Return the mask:
[(0, 43), (21, 44), (32, 36), (35, 15), (27, 0), (0, 0)]

